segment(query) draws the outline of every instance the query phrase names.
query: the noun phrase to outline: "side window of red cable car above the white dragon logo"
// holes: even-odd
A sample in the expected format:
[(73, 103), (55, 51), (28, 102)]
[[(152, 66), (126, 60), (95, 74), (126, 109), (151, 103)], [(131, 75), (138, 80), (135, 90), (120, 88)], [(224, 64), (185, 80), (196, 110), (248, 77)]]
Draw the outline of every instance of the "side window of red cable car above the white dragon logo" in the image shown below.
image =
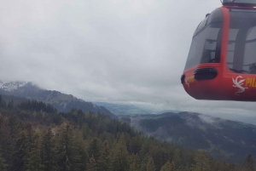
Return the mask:
[(227, 66), (237, 73), (256, 73), (255, 10), (231, 10)]

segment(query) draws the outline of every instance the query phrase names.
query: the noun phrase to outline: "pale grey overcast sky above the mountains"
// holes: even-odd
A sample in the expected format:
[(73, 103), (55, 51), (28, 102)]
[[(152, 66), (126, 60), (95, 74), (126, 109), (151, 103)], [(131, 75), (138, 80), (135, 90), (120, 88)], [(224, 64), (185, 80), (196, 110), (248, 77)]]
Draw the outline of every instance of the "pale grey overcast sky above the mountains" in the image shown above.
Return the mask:
[(194, 100), (180, 83), (195, 27), (220, 6), (218, 0), (1, 1), (0, 79), (86, 101), (254, 117), (255, 103)]

